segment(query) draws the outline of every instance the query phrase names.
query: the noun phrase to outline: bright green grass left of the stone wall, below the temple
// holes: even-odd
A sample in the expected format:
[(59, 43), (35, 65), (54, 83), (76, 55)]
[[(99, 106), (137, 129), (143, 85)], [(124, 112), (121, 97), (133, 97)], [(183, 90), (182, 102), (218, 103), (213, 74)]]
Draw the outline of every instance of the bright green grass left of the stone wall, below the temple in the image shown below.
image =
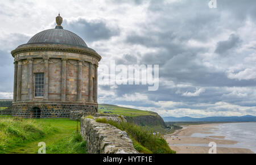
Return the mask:
[(77, 129), (80, 122), (67, 119), (0, 119), (0, 153), (34, 154), (39, 142), (46, 143), (46, 153), (85, 153), (85, 142), (74, 140)]

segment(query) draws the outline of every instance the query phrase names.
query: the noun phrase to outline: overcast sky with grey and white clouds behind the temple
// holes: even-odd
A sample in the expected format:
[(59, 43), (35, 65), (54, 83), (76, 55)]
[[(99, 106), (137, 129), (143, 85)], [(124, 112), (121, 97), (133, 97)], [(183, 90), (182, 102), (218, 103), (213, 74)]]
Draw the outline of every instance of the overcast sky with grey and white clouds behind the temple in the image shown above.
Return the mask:
[(98, 101), (161, 116), (256, 115), (256, 1), (0, 1), (0, 98), (13, 96), (10, 51), (44, 29), (77, 33), (100, 65), (157, 64), (159, 90), (99, 82)]

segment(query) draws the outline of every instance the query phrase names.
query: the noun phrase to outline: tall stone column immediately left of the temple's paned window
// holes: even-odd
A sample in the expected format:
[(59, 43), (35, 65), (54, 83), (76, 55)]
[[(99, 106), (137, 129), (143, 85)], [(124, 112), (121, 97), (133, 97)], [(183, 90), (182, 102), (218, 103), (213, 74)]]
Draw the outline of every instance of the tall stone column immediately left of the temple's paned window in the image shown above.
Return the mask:
[(33, 88), (33, 58), (28, 58), (28, 83), (27, 83), (27, 99), (32, 100), (32, 88)]

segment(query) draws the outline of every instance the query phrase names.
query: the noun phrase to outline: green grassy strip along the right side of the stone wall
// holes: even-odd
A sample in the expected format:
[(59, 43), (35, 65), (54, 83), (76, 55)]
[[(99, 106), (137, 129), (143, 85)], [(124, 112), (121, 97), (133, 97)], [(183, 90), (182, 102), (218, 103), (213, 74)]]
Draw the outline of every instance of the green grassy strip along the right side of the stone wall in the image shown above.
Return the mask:
[(107, 121), (105, 118), (96, 119), (96, 122), (108, 123), (121, 129), (133, 139), (134, 148), (141, 153), (154, 153), (154, 154), (174, 154), (175, 151), (171, 150), (168, 143), (162, 136), (153, 135), (152, 130), (149, 131), (142, 126), (131, 124), (129, 122), (115, 122), (112, 120)]

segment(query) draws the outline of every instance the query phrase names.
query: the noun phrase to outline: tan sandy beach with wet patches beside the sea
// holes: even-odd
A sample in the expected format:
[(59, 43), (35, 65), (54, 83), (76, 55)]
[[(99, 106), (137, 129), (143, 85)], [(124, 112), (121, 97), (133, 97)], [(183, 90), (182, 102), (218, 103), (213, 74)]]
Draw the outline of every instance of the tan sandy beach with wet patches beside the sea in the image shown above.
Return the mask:
[[(226, 140), (224, 136), (210, 136), (210, 131), (217, 129), (218, 124), (183, 126), (174, 134), (164, 136), (168, 145), (177, 154), (208, 154), (210, 142), (218, 145), (234, 145), (237, 141)], [(209, 134), (208, 137), (191, 137), (194, 133)], [(253, 154), (249, 149), (236, 147), (217, 147), (217, 154)]]

